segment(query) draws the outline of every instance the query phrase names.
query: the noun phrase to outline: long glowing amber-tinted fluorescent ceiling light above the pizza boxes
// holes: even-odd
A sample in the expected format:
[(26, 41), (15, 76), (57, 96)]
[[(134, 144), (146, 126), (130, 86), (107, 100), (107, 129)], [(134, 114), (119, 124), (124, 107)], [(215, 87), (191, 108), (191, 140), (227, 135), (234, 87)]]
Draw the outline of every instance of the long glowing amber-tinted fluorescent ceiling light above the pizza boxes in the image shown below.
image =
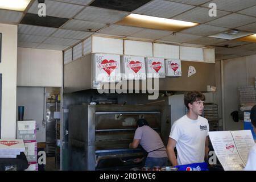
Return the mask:
[(130, 14), (115, 24), (170, 31), (181, 31), (198, 25), (198, 23), (139, 14)]

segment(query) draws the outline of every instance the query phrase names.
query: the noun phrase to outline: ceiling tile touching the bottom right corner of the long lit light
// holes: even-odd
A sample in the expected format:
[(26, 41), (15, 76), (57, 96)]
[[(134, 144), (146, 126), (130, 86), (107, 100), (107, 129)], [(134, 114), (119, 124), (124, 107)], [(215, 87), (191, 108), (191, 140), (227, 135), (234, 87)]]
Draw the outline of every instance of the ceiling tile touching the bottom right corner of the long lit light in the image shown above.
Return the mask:
[(198, 35), (176, 33), (175, 35), (169, 35), (159, 40), (167, 40), (171, 42), (188, 42), (200, 38)]

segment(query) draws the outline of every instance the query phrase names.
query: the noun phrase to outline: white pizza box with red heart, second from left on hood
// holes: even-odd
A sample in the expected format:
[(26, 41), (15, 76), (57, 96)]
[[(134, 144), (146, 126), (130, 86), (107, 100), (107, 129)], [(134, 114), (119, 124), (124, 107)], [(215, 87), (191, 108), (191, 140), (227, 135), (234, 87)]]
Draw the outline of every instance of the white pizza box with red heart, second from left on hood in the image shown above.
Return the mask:
[(124, 79), (127, 80), (146, 80), (146, 68), (144, 57), (123, 56)]

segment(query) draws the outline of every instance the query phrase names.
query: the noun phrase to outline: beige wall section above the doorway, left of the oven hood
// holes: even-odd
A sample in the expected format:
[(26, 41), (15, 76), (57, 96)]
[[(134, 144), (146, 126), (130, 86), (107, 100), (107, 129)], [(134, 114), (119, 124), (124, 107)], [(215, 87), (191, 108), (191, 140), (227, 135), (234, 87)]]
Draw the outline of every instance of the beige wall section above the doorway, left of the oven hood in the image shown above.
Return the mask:
[(17, 86), (62, 84), (62, 51), (18, 48)]

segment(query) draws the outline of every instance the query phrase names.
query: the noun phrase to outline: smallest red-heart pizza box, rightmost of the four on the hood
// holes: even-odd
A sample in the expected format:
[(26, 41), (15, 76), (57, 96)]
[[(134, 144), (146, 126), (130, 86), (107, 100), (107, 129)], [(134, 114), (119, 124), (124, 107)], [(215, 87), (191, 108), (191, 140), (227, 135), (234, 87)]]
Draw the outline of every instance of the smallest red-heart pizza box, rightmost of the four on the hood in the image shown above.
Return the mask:
[(166, 76), (181, 76), (181, 61), (179, 59), (166, 60)]

